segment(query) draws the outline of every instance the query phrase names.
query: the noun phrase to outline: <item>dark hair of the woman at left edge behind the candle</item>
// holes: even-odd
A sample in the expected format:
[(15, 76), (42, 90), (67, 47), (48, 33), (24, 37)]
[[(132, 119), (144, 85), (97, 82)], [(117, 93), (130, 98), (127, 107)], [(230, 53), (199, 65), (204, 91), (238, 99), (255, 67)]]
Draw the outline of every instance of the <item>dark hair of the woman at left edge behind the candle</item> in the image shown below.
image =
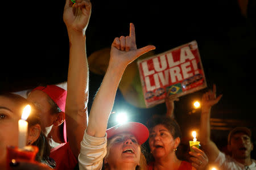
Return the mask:
[[(0, 96), (4, 96), (11, 99), (12, 101), (14, 101), (16, 106), (20, 108), (23, 108), (27, 104), (29, 104), (31, 106), (31, 113), (30, 116), (27, 118), (28, 128), (36, 124), (40, 125), (40, 112), (38, 109), (36, 109), (33, 103), (27, 101), (27, 99), (25, 99), (22, 96), (12, 94), (10, 92), (0, 93)], [(42, 133), (42, 131), (40, 131), (39, 138), (34, 143), (32, 143), (32, 145), (37, 146), (39, 148), (38, 154), (36, 154), (36, 160), (38, 162), (43, 162), (44, 160), (49, 159), (48, 156), (51, 150), (49, 147), (49, 143), (46, 139), (46, 136)]]

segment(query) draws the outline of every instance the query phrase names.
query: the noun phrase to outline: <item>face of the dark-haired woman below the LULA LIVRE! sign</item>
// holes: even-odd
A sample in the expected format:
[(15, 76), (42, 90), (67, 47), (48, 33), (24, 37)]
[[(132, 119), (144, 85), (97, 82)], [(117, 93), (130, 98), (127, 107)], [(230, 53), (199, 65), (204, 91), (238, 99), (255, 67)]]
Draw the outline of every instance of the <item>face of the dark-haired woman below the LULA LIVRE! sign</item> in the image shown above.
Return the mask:
[(179, 145), (180, 138), (174, 139), (164, 125), (156, 125), (150, 130), (149, 146), (155, 159), (175, 154), (174, 149)]

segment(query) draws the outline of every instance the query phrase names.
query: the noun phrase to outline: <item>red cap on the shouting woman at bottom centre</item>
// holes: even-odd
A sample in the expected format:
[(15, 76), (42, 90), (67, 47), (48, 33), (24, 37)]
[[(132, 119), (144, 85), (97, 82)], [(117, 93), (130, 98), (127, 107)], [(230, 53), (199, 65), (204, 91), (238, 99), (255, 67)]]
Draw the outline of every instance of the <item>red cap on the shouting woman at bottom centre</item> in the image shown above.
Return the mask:
[(139, 122), (127, 122), (125, 124), (118, 124), (106, 130), (108, 139), (123, 132), (129, 132), (133, 134), (139, 145), (142, 145), (144, 142), (146, 142), (149, 136), (147, 127)]

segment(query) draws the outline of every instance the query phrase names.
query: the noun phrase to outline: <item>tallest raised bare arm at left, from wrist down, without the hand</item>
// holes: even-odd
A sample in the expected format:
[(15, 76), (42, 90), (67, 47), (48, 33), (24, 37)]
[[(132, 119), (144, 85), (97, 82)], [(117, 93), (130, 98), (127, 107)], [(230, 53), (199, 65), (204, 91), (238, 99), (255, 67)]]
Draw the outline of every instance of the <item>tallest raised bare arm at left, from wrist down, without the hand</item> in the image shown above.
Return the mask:
[(88, 62), (85, 35), (69, 32), (69, 68), (65, 118), (69, 145), (75, 156), (79, 155), (80, 142), (87, 126)]

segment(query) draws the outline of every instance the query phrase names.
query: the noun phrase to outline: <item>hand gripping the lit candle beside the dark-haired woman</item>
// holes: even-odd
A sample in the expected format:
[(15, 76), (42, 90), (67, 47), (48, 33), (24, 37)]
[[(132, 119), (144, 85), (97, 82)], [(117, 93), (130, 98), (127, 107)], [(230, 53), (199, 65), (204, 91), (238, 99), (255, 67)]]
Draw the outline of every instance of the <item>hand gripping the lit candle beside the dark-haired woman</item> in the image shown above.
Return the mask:
[(191, 164), (197, 170), (204, 170), (207, 168), (208, 165), (208, 157), (204, 153), (204, 151), (200, 150), (199, 148), (193, 146), (192, 147), (195, 152), (189, 152), (188, 154), (191, 155)]

